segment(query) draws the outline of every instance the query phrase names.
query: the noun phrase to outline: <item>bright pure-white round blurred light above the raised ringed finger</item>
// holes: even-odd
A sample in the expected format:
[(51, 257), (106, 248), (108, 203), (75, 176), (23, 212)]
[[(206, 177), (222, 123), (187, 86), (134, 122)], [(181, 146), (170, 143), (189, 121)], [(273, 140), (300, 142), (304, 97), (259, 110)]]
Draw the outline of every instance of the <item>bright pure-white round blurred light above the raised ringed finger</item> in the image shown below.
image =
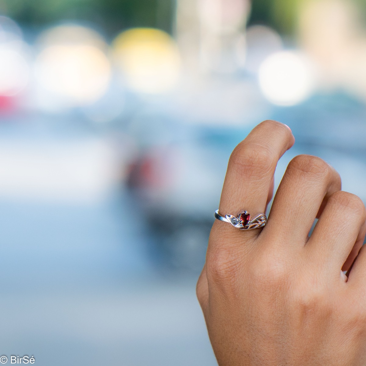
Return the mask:
[(273, 104), (294, 105), (313, 91), (315, 78), (309, 60), (292, 52), (274, 53), (259, 67), (259, 86)]

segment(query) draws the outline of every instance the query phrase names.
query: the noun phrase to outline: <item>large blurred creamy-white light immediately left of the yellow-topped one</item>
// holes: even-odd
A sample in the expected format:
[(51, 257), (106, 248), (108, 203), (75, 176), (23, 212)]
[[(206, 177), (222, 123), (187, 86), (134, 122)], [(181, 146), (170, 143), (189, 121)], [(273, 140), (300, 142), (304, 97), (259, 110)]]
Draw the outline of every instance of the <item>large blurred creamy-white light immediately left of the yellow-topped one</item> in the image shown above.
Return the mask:
[(37, 82), (60, 104), (85, 105), (107, 91), (111, 66), (98, 34), (80, 26), (60, 26), (42, 35)]

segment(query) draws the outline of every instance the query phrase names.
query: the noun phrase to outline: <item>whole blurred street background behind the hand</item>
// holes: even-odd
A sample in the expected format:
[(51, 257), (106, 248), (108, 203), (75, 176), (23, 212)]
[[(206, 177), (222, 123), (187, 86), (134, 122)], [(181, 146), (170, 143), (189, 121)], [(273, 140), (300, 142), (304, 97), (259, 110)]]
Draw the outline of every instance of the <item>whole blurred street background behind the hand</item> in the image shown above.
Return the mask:
[[(216, 365), (195, 298), (264, 119), (366, 201), (366, 2), (0, 0), (0, 353)], [(10, 363), (10, 361), (8, 362)]]

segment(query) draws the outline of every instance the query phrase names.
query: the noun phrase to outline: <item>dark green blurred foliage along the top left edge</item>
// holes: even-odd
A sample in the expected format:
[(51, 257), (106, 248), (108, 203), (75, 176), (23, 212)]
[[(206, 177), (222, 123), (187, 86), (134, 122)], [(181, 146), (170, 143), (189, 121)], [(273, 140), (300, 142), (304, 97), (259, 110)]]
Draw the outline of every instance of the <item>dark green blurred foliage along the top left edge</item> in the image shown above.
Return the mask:
[(129, 27), (154, 27), (171, 33), (173, 0), (0, 0), (0, 13), (23, 25), (85, 20), (109, 33)]

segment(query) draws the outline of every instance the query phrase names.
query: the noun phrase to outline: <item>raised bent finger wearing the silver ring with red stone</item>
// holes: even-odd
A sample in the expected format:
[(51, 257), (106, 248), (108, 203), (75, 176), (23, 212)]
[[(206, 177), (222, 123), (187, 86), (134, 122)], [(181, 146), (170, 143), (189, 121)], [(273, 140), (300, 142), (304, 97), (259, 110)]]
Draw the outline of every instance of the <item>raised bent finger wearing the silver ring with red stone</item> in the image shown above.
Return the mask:
[[(264, 121), (255, 127), (231, 154), (220, 199), (221, 215), (239, 213), (245, 209), (254, 217), (264, 213), (273, 191), (273, 174), (277, 161), (294, 144), (290, 128), (276, 121)], [(223, 235), (243, 240), (243, 232), (231, 225), (215, 222)], [(214, 225), (214, 228), (215, 228)], [(247, 231), (245, 238), (257, 236), (257, 230)]]

